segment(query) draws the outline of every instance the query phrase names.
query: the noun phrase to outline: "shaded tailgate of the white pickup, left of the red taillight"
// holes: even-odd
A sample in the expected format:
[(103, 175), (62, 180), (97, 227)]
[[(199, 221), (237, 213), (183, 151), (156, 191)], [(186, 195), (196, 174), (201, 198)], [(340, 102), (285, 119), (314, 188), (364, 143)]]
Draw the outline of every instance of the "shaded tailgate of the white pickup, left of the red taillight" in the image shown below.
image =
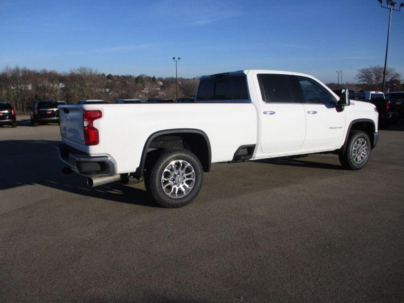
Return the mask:
[[(59, 106), (60, 133), (66, 143), (85, 146), (83, 134), (83, 108), (81, 105)], [(74, 144), (74, 145), (76, 145)]]

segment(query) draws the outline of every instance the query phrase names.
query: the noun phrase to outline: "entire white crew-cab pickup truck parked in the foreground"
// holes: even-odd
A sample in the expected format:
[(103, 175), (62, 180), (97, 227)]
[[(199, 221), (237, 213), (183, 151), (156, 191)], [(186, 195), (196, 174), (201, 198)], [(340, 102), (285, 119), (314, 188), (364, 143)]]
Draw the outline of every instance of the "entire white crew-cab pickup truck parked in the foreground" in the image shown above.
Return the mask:
[[(145, 181), (164, 207), (201, 189), (211, 163), (329, 152), (361, 169), (378, 141), (373, 104), (350, 103), (300, 73), (244, 70), (200, 78), (192, 104), (60, 106), (65, 173), (89, 186)], [(225, 181), (223, 181), (225, 182)]]

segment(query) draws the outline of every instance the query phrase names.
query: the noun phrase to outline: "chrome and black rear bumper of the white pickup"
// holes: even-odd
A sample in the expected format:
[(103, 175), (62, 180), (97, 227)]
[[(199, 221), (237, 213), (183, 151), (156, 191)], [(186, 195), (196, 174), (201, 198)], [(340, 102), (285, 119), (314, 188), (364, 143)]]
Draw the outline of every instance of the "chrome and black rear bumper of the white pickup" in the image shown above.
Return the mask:
[(72, 171), (86, 177), (107, 177), (116, 175), (116, 163), (110, 156), (90, 157), (69, 145), (56, 146), (58, 158)]

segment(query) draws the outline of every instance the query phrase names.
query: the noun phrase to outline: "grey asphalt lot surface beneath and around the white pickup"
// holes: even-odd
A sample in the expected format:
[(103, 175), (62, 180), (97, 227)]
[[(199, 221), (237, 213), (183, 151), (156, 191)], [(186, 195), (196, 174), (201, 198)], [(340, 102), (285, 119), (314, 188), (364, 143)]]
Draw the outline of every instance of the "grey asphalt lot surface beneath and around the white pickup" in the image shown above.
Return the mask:
[[(26, 117), (25, 117), (26, 118)], [(0, 128), (0, 301), (404, 301), (404, 126), (368, 166), (215, 164), (167, 210), (63, 175), (56, 125)]]

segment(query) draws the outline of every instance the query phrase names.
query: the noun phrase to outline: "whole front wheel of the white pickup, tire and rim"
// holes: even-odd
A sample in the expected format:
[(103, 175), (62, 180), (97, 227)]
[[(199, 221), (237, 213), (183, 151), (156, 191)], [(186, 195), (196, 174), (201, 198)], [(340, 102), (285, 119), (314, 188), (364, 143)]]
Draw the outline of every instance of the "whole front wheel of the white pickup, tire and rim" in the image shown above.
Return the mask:
[(368, 162), (371, 151), (369, 136), (360, 130), (352, 130), (345, 148), (339, 155), (342, 167), (349, 170), (359, 170)]

